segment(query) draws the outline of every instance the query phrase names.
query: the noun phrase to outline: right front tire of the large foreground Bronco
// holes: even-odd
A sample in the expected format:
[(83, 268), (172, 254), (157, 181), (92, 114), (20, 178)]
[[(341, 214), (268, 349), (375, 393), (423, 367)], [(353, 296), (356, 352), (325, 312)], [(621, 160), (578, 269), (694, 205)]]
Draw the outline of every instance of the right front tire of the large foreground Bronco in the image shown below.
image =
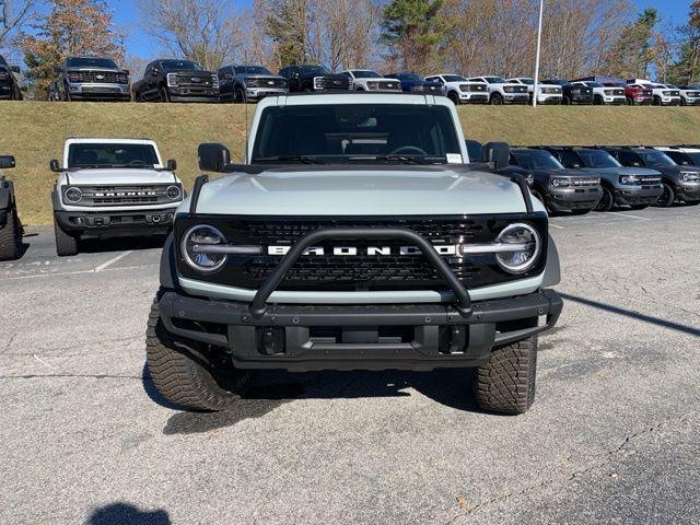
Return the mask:
[(491, 351), (476, 370), (477, 402), (482, 410), (524, 413), (535, 401), (537, 336)]

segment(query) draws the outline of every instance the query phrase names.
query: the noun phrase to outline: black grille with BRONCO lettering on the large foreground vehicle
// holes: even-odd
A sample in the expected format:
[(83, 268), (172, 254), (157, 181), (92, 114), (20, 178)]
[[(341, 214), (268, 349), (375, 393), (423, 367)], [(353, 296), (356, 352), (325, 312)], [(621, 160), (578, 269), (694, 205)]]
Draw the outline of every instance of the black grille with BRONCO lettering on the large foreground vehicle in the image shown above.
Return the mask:
[[(182, 261), (180, 273), (198, 280), (240, 288), (257, 288), (281, 260), (281, 255), (269, 255), (270, 246), (291, 246), (305, 233), (325, 228), (406, 228), (422, 235), (436, 247), (450, 250), (456, 244), (492, 242), (505, 225), (527, 220), (542, 232), (546, 238), (546, 218), (500, 215), (498, 218), (445, 218), (445, 219), (368, 219), (352, 220), (291, 218), (288, 220), (202, 218), (199, 221), (220, 229), (232, 244), (262, 246), (262, 255), (230, 258), (219, 272), (202, 276), (194, 272)], [(182, 235), (194, 221), (183, 218), (176, 221), (177, 235)], [(338, 255), (334, 248), (355, 249), (352, 255)], [(436, 271), (416, 248), (405, 243), (387, 240), (326, 241), (310, 250), (308, 255), (293, 266), (280, 285), (280, 290), (358, 291), (358, 290), (427, 290), (442, 288)], [(374, 248), (373, 250), (370, 248)], [(377, 249), (385, 250), (380, 255)], [(277, 249), (277, 248), (276, 248)], [(275, 252), (275, 249), (272, 250)], [(493, 255), (469, 256), (444, 255), (453, 272), (467, 285), (479, 287), (523, 276), (511, 276), (498, 266)], [(541, 271), (541, 267), (533, 273)]]

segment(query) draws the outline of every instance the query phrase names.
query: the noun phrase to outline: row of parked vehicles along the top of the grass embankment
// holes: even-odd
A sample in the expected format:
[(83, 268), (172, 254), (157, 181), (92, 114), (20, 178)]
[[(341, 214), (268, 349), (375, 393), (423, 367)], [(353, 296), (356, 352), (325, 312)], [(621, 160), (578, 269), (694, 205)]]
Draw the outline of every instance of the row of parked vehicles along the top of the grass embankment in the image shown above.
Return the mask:
[[(0, 98), (21, 98), (20, 86), (0, 57)], [(158, 59), (143, 78), (130, 82), (129, 71), (110, 58), (69, 57), (57, 69), (48, 100), (136, 102), (257, 102), (266, 96), (295, 92), (364, 91), (444, 95), (455, 104), (564, 105), (700, 105), (700, 86), (676, 86), (646, 79), (590, 77), (576, 80), (545, 79), (537, 85), (527, 77), (464, 77), (415, 72), (380, 74), (372, 69), (334, 73), (317, 65), (289, 66), (273, 74), (262, 66), (224, 66), (206, 71), (197, 62)]]

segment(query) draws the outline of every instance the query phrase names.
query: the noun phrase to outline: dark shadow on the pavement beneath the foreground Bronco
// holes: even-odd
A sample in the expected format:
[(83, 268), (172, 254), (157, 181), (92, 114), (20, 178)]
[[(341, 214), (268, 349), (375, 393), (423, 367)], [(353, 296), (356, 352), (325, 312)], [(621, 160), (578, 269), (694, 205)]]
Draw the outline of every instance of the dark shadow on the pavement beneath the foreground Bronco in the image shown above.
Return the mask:
[[(471, 395), (470, 370), (435, 372), (313, 372), (292, 374), (284, 371), (261, 371), (243, 399), (220, 412), (178, 411), (163, 429), (166, 435), (196, 434), (233, 427), (246, 419), (271, 412), (284, 404), (300, 399), (352, 399), (369, 397), (410, 397), (419, 394), (455, 410), (479, 411)], [(143, 371), (143, 386), (159, 405), (178, 410), (153, 386)]]

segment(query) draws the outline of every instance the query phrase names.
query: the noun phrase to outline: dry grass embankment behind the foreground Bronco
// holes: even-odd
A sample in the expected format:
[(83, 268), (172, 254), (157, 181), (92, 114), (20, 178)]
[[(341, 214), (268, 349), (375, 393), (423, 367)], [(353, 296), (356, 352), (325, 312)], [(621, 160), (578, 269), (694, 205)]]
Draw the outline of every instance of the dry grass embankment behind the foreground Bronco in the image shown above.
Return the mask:
[[(250, 114), (255, 109), (248, 108)], [(660, 107), (459, 108), (467, 138), (511, 144), (670, 144), (700, 142), (700, 109)], [(234, 158), (245, 140), (237, 105), (0, 103), (0, 153), (13, 154), (12, 177), (22, 220), (51, 222), (50, 191), (67, 137), (145, 137), (165, 159), (176, 159), (187, 186), (197, 170), (200, 142), (224, 142)]]

